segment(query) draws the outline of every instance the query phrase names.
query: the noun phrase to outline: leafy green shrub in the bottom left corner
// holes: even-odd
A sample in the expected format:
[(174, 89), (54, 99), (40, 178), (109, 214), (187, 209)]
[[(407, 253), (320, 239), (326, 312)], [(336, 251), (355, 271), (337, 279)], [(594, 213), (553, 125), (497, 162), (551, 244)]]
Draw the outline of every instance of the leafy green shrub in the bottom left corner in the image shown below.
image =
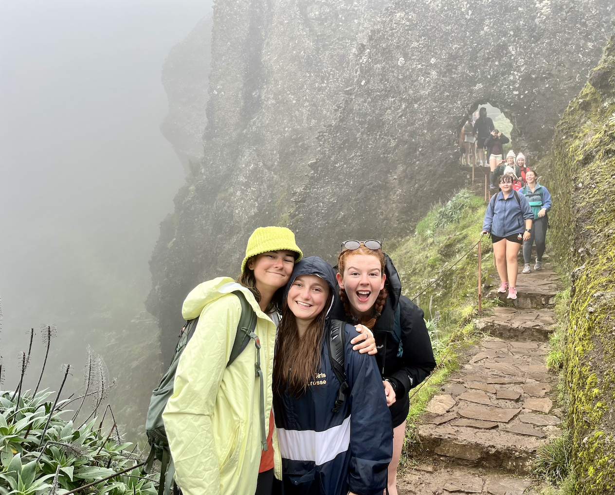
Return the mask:
[(158, 475), (144, 477), (138, 468), (130, 469), (140, 453), (127, 451), (132, 444), (122, 443), (115, 425), (109, 435), (94, 419), (75, 427), (60, 418), (60, 406), (68, 400), (47, 401), (51, 392), (15, 395), (0, 392), (1, 495), (61, 495), (96, 481), (92, 488), (98, 493), (156, 495)]

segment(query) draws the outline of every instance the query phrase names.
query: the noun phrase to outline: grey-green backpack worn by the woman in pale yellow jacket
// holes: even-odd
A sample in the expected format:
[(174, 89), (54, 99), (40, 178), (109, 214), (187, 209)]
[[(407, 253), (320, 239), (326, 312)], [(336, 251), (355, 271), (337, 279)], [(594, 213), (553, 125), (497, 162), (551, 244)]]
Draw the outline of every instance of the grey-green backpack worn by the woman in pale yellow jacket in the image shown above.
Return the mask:
[[(228, 366), (236, 360), (237, 356), (239, 356), (239, 354), (241, 354), (247, 347), (248, 343), (250, 343), (250, 340), (254, 341), (256, 346), (255, 376), (256, 378), (260, 378), (261, 384), (261, 443), (263, 444), (263, 450), (267, 450), (267, 435), (265, 433), (264, 418), (264, 380), (263, 371), (261, 370), (260, 353), (261, 343), (258, 339), (258, 335), (256, 335), (254, 331), (257, 320), (256, 313), (252, 309), (252, 306), (250, 306), (250, 303), (248, 303), (242, 291), (236, 290), (232, 293), (239, 298), (239, 302), (241, 303), (241, 317), (239, 319), (239, 324), (237, 325), (237, 333), (232, 346), (231, 357), (229, 358), (229, 362), (226, 363), (226, 367), (228, 368)], [(173, 384), (175, 382), (177, 364), (180, 361), (181, 354), (186, 348), (186, 344), (188, 344), (188, 341), (192, 338), (192, 335), (194, 335), (194, 330), (196, 329), (198, 322), (198, 317), (194, 320), (189, 320), (181, 329), (180, 341), (177, 343), (177, 347), (175, 348), (175, 355), (173, 356), (169, 370), (167, 370), (167, 373), (164, 374), (159, 386), (154, 389), (149, 400), (148, 415), (145, 420), (145, 430), (148, 435), (148, 442), (149, 445), (151, 445), (151, 450), (149, 451), (149, 457), (144, 471), (146, 473), (151, 471), (152, 465), (154, 464), (154, 459), (161, 461), (160, 485), (158, 489), (159, 495), (162, 495), (163, 493), (170, 493), (173, 475), (175, 474), (175, 466), (173, 465), (173, 459), (171, 459), (167, 432), (164, 429), (164, 422), (162, 422), (162, 413), (164, 412), (164, 408), (167, 406), (169, 398), (173, 395)]]

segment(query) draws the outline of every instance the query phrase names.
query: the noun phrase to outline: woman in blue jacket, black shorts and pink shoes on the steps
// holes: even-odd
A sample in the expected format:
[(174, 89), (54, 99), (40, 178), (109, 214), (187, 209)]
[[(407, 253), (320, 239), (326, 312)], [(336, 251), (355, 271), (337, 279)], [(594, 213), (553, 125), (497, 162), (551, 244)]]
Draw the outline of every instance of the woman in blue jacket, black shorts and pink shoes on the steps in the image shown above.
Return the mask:
[(502, 175), (501, 191), (491, 198), (483, 221), (483, 234), (491, 234), (493, 255), (502, 280), (498, 292), (517, 299), (517, 255), (524, 240), (530, 239), (534, 212), (528, 199), (512, 189), (512, 175)]

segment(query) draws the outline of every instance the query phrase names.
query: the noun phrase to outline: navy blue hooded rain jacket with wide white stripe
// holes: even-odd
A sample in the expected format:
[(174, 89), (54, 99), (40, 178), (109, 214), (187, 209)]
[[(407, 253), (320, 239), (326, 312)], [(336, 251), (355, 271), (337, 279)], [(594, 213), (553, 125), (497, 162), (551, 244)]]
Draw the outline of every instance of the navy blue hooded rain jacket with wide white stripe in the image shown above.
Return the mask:
[[(335, 272), (317, 256), (296, 264), (287, 291), (299, 275), (319, 275), (333, 291)], [(282, 481), (286, 491), (298, 495), (361, 495), (383, 493), (391, 462), (391, 414), (376, 359), (352, 350), (357, 336), (344, 328), (344, 368), (351, 391), (338, 412), (331, 409), (339, 381), (331, 367), (326, 340), (327, 319), (320, 346), (320, 370), (301, 397), (285, 389), (274, 390), (274, 417), (282, 454)]]

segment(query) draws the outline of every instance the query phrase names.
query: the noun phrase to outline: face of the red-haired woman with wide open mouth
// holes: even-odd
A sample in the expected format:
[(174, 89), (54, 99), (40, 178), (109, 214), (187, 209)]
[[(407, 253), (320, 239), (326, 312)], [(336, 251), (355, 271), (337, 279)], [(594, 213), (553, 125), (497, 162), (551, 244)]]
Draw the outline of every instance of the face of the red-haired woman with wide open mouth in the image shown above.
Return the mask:
[(344, 263), (344, 272), (338, 273), (337, 278), (339, 288), (346, 291), (355, 315), (371, 314), (386, 278), (380, 260), (371, 255), (348, 256)]

